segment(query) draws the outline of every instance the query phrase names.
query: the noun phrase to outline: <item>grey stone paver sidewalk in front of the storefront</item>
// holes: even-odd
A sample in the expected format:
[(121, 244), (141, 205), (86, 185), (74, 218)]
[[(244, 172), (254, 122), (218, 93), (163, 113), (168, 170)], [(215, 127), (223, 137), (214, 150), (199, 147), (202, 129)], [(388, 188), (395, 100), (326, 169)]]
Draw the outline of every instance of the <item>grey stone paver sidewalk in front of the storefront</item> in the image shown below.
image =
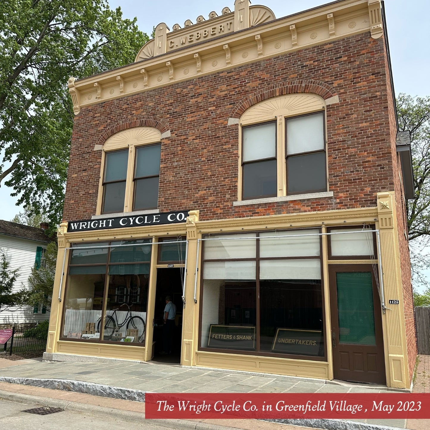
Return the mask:
[[(164, 393), (386, 393), (387, 388), (369, 388), (326, 383), (324, 380), (278, 375), (252, 375), (180, 365), (127, 362), (40, 362), (2, 367), (0, 377), (68, 379), (132, 390)], [(355, 420), (368, 424), (406, 428), (405, 420)], [(409, 427), (408, 428), (415, 428)]]

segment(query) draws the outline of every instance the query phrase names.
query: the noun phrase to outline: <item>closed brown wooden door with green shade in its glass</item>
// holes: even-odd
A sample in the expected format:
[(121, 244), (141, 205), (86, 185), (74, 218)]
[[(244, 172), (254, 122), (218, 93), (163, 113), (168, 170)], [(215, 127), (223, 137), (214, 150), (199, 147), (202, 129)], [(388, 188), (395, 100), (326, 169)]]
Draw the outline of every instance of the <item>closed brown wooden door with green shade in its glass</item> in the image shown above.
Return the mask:
[(333, 374), (385, 384), (381, 301), (370, 264), (330, 264)]

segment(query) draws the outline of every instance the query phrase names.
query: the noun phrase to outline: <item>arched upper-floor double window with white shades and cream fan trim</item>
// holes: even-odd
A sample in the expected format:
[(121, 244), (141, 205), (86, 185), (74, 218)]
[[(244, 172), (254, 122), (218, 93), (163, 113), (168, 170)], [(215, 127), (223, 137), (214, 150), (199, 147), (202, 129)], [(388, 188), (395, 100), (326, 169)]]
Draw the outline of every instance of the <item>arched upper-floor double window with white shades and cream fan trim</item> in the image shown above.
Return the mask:
[(325, 102), (292, 94), (243, 114), (239, 200), (327, 191)]

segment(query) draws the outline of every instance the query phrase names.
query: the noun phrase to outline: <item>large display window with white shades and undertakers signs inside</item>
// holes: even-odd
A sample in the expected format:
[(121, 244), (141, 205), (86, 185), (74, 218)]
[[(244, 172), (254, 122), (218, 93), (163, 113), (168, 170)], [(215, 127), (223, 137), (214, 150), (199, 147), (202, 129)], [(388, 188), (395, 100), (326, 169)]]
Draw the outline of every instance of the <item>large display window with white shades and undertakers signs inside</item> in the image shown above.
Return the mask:
[(326, 359), (320, 233), (204, 237), (199, 349)]

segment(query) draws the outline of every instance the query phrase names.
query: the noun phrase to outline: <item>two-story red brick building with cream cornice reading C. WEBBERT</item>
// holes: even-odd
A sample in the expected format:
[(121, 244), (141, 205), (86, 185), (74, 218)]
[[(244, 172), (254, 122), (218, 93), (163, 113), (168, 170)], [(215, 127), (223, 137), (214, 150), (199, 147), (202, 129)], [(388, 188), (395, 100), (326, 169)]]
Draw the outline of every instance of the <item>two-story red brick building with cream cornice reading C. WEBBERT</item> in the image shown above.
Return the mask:
[(48, 358), (410, 388), (412, 162), (381, 3), (237, 0), (69, 80)]

